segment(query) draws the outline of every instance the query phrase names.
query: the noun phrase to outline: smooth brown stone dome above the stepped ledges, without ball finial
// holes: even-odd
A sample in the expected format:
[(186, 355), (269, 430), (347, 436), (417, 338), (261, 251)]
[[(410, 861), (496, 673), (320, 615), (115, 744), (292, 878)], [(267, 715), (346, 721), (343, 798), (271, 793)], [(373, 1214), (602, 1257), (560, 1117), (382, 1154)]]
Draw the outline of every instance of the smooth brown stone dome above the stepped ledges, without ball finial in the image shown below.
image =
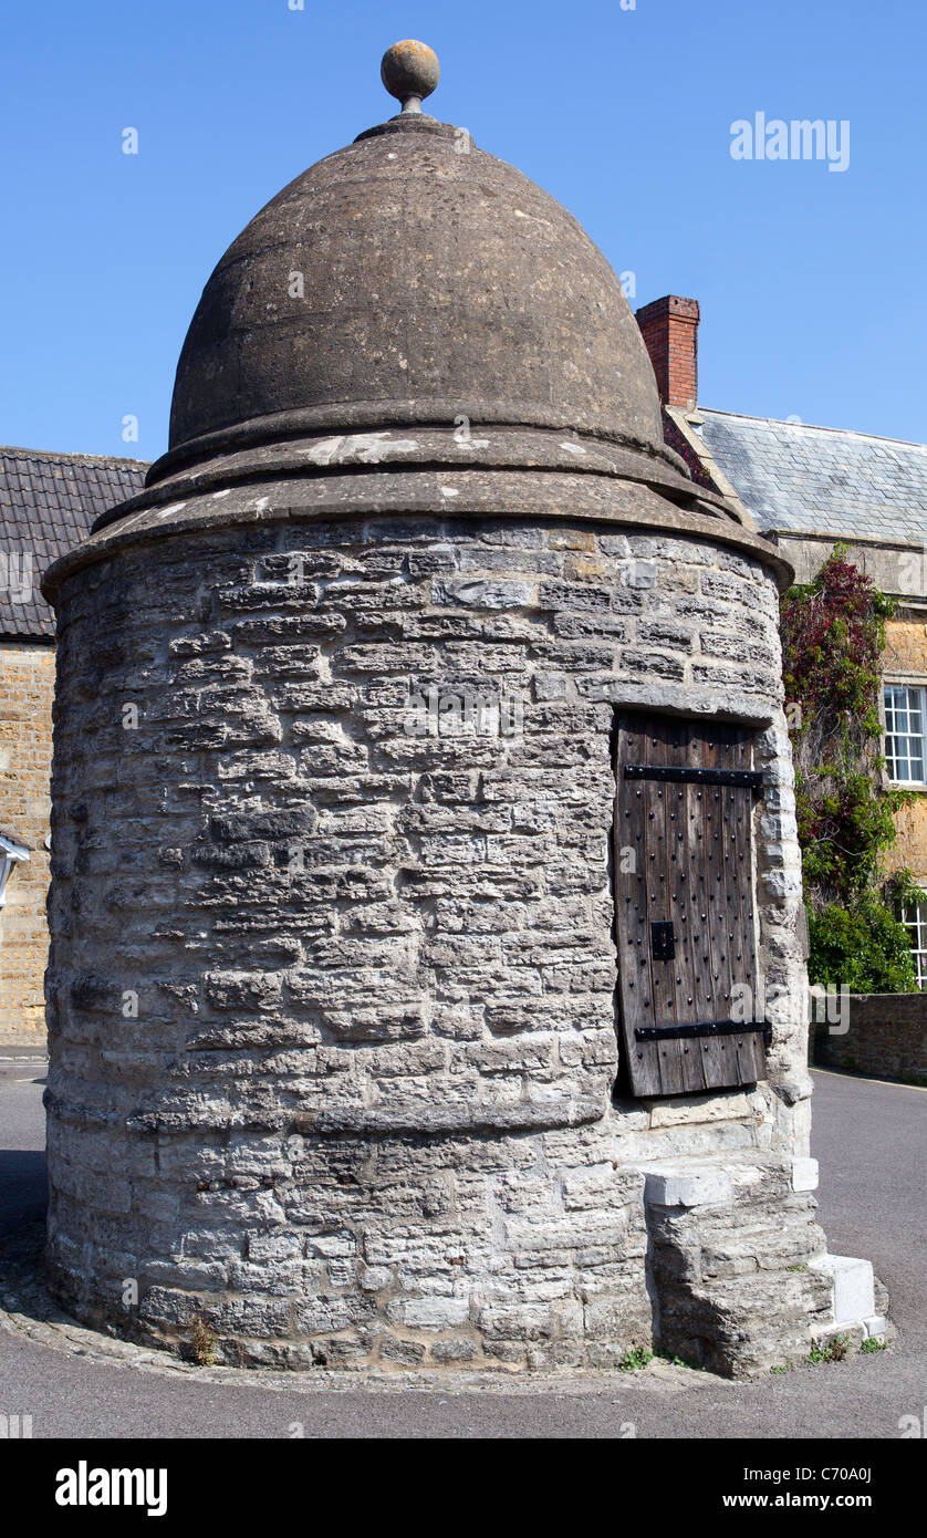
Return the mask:
[(226, 251), (180, 357), (171, 449), (461, 415), (664, 452), (601, 251), (464, 129), (404, 112), (304, 171)]

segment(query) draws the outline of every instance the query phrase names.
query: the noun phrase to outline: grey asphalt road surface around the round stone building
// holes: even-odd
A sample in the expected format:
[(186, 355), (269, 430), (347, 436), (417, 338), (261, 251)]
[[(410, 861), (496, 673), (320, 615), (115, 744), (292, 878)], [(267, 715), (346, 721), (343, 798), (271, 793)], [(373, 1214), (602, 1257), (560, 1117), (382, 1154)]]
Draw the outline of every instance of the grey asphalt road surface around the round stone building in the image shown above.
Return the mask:
[[(38, 1063), (0, 1061), (0, 1244), (45, 1203), (42, 1077)], [(927, 1418), (927, 1092), (815, 1081), (819, 1218), (830, 1250), (870, 1258), (889, 1287), (899, 1340), (887, 1352), (749, 1384), (646, 1372), (544, 1389), (331, 1389), (101, 1364), (0, 1330), (0, 1409), (31, 1413), (35, 1438), (81, 1440), (898, 1438), (901, 1416)]]

